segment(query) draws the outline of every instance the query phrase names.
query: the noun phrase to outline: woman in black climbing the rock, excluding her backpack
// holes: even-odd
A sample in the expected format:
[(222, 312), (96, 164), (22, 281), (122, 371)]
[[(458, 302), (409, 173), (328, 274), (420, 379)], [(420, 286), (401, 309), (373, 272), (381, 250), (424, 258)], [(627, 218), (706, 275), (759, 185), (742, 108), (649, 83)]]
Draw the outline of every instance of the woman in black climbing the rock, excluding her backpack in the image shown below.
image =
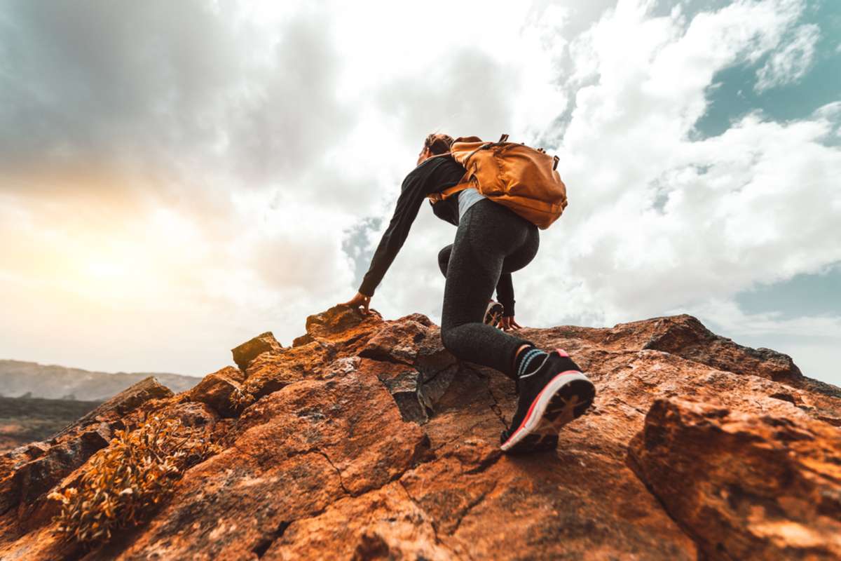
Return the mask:
[[(426, 137), (359, 292), (345, 305), (362, 306), (362, 313), (368, 314), (374, 290), (409, 235), (424, 198), (458, 184), (463, 177), (464, 167), (452, 157), (431, 157), (450, 151), (452, 142), (447, 135)], [(520, 328), (514, 320), (510, 273), (526, 267), (537, 254), (537, 225), (484, 198), (475, 188), (438, 201), (432, 211), (458, 226), (455, 241), (438, 254), (447, 278), (441, 316), (444, 347), (460, 360), (495, 368), (515, 380), (516, 412), (500, 437), (505, 452), (554, 449), (560, 428), (584, 414), (595, 388), (563, 350), (545, 352), (532, 341), (506, 332)], [(494, 287), (504, 308), (499, 321), (502, 331), (487, 317), (494, 311), (490, 300)]]

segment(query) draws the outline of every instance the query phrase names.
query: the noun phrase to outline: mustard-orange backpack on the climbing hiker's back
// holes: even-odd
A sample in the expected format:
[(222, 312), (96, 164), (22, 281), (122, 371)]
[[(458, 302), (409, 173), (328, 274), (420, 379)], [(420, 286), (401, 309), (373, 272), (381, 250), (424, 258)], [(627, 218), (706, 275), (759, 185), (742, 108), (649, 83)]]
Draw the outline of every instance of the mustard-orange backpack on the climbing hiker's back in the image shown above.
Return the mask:
[(432, 157), (452, 156), (467, 170), (458, 185), (432, 193), (432, 203), (474, 187), (491, 200), (546, 230), (567, 207), (567, 188), (556, 171), (558, 156), (542, 148), (507, 142), (483, 142), (478, 136), (453, 141), (450, 151)]

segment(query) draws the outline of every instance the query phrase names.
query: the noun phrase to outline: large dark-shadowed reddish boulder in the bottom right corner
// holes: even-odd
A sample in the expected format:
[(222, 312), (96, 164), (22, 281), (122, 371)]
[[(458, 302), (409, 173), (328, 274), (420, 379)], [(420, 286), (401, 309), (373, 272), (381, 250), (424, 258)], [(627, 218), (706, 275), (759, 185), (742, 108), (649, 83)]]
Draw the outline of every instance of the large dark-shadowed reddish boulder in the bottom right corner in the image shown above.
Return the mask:
[(833, 426), (794, 411), (657, 400), (631, 456), (710, 558), (841, 558), (841, 431)]

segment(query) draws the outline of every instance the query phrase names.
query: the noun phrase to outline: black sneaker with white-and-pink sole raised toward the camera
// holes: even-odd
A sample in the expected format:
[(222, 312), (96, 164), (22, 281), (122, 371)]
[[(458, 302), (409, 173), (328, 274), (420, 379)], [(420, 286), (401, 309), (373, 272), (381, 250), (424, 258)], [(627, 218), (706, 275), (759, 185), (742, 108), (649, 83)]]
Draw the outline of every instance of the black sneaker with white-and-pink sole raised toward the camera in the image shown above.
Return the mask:
[(500, 435), (506, 453), (553, 450), (558, 431), (584, 412), (595, 398), (595, 386), (563, 349), (548, 353), (537, 370), (517, 379), (517, 410)]

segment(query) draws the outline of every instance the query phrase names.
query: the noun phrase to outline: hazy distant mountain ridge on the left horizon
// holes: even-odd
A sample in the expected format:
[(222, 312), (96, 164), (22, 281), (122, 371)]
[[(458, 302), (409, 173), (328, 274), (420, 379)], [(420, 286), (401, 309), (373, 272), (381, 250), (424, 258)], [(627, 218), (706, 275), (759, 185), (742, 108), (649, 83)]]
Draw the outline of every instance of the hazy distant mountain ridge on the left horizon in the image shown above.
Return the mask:
[(149, 376), (154, 376), (175, 393), (201, 381), (201, 378), (182, 374), (91, 372), (53, 364), (0, 360), (0, 396), (103, 401)]

